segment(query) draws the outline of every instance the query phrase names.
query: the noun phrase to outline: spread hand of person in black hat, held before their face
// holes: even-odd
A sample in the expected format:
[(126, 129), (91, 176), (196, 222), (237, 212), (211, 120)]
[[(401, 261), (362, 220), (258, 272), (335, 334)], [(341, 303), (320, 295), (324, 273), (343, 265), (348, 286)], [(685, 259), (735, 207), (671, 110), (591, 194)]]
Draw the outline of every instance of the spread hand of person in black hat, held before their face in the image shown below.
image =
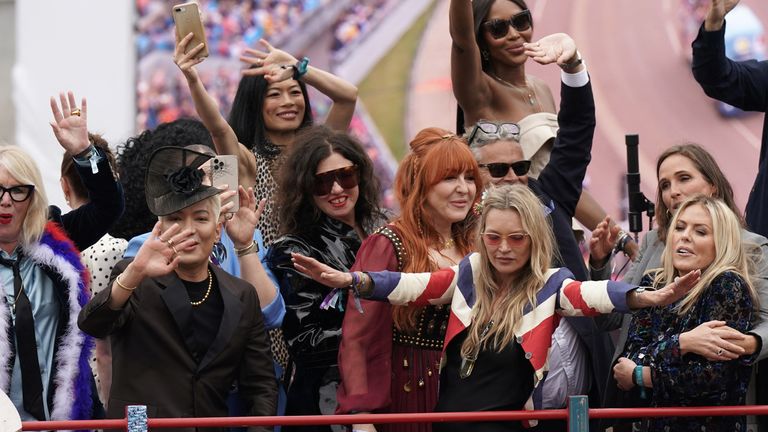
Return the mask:
[(197, 243), (192, 231), (180, 231), (178, 224), (165, 232), (160, 231), (160, 226), (160, 222), (155, 224), (131, 263), (142, 277), (157, 277), (174, 271), (179, 265), (179, 251)]

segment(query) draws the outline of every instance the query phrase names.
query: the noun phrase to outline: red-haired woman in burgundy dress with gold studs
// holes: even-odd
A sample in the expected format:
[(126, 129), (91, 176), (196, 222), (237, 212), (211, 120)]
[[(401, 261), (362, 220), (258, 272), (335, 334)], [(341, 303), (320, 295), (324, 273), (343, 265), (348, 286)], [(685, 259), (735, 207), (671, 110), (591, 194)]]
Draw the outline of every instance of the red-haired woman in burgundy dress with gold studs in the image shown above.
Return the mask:
[[(353, 270), (435, 271), (456, 265), (473, 250), (470, 209), (482, 181), (466, 142), (448, 131), (427, 128), (410, 148), (395, 178), (401, 215), (363, 242)], [(432, 411), (448, 308), (370, 301), (364, 301), (363, 308), (365, 314), (353, 309), (344, 317), (337, 411)], [(386, 429), (429, 431), (431, 425), (394, 424)], [(376, 428), (355, 424), (353, 430)]]

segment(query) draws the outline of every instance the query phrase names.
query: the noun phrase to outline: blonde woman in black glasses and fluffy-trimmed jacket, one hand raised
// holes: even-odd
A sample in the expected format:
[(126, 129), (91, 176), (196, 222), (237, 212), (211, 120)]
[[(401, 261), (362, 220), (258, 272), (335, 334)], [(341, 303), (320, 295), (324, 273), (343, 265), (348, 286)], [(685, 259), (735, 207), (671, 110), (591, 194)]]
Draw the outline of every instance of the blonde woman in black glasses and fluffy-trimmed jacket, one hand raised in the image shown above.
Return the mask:
[(0, 387), (21, 419), (103, 417), (88, 363), (93, 339), (76, 326), (87, 303), (80, 249), (123, 211), (122, 189), (88, 139), (88, 109), (72, 92), (51, 98), (51, 127), (73, 160), (90, 202), (62, 214), (48, 206), (40, 170), (16, 146), (0, 148)]

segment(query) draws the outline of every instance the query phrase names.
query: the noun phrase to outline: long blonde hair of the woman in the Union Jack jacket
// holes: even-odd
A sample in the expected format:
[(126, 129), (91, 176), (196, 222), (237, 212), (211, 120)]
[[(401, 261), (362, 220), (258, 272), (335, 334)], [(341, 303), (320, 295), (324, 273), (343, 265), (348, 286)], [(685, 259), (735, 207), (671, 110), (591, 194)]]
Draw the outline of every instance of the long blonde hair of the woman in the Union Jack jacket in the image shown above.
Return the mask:
[[(546, 273), (552, 263), (554, 234), (547, 221), (541, 202), (521, 184), (504, 185), (488, 189), (483, 200), (483, 211), (476, 244), (481, 264), (475, 280), (476, 303), (472, 308), (473, 325), (461, 346), (462, 356), (474, 355), (483, 347), (501, 351), (514, 339), (515, 327), (527, 305), (536, 304), (536, 293), (546, 282)], [(511, 281), (499, 280), (491, 265), (488, 250), (480, 233), (485, 230), (488, 213), (493, 210), (511, 210), (520, 216), (523, 230), (530, 239), (531, 256)], [(487, 323), (493, 325), (487, 332)], [(483, 333), (486, 333), (483, 335)]]

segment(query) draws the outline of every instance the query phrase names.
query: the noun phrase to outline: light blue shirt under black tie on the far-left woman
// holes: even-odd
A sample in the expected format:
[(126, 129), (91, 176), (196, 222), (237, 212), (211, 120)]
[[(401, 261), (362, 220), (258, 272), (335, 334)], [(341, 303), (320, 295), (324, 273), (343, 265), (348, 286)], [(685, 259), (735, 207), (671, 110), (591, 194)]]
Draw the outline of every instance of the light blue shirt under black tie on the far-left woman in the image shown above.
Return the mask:
[[(0, 256), (5, 259), (18, 259), (17, 251), (8, 255), (5, 251), (0, 251)], [(19, 266), (21, 280), (24, 292), (32, 305), (32, 316), (35, 320), (35, 340), (37, 342), (37, 358), (40, 362), (40, 374), (43, 381), (43, 408), (45, 410), (45, 419), (50, 418), (48, 408), (48, 390), (51, 382), (51, 372), (53, 369), (53, 352), (56, 342), (56, 329), (59, 326), (59, 304), (54, 294), (53, 281), (28, 258), (22, 258)], [(13, 305), (15, 295), (13, 292), (13, 269), (0, 265), (0, 284), (3, 287), (8, 305)], [(11, 310), (11, 319), (16, 321), (16, 316)], [(15, 341), (14, 341), (15, 343)], [(16, 352), (19, 352), (16, 344)], [(29, 413), (24, 411), (24, 396), (21, 385), (21, 363), (17, 355), (13, 362), (13, 372), (11, 374), (11, 401), (19, 411), (21, 419), (36, 420)]]

